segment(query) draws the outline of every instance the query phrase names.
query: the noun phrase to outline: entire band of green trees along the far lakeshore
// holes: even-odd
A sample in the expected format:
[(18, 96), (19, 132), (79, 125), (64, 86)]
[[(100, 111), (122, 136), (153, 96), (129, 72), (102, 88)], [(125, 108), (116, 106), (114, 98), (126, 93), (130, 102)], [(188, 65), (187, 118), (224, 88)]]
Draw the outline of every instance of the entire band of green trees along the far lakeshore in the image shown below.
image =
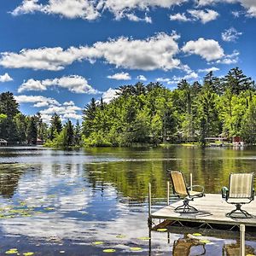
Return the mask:
[(160, 83), (120, 86), (108, 104), (92, 98), (83, 122), (61, 123), (55, 113), (44, 124), (40, 113), (25, 116), (10, 92), (0, 95), (0, 138), (46, 146), (132, 146), (202, 143), (206, 137), (242, 137), (256, 143), (254, 81), (238, 67), (223, 78), (207, 73), (202, 83), (181, 80), (174, 90)]

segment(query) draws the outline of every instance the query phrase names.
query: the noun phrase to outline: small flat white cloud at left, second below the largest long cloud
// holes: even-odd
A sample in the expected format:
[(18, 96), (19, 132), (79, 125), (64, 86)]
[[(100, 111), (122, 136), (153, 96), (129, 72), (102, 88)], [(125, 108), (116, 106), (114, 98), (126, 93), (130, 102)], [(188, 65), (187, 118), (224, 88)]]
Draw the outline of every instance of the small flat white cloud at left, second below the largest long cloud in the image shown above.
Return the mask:
[(18, 103), (34, 103), (33, 106), (37, 108), (47, 107), (49, 105), (60, 106), (60, 103), (57, 102), (55, 99), (44, 97), (44, 96), (20, 95), (20, 96), (15, 96), (15, 100)]

